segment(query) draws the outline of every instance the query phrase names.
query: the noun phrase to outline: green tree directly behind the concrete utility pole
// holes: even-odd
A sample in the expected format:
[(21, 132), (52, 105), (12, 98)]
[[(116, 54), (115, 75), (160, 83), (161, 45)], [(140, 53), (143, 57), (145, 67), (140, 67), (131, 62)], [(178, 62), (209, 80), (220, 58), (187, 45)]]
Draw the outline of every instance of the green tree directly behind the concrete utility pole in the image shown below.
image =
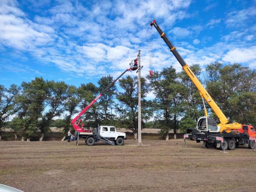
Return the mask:
[[(137, 77), (132, 78), (127, 76), (124, 79), (119, 80), (120, 87), (123, 92), (117, 93), (117, 99), (119, 103), (116, 105), (116, 110), (119, 113), (120, 122), (124, 128), (128, 128), (134, 133), (134, 139), (137, 139), (138, 134), (138, 81)], [(144, 127), (144, 121), (149, 120), (152, 115), (152, 111), (148, 108), (148, 102), (145, 100), (146, 93), (148, 93), (148, 84), (144, 78), (141, 78), (141, 119), (142, 128)]]

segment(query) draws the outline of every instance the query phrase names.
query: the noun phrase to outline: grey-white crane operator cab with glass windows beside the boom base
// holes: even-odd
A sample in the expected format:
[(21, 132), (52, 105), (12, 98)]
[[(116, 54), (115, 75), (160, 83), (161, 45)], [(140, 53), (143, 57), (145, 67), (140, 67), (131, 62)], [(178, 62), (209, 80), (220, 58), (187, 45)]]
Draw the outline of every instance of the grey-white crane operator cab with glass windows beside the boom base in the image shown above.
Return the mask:
[(198, 119), (196, 128), (200, 132), (219, 132), (220, 131), (220, 127), (218, 127), (215, 120), (208, 116), (200, 117)]

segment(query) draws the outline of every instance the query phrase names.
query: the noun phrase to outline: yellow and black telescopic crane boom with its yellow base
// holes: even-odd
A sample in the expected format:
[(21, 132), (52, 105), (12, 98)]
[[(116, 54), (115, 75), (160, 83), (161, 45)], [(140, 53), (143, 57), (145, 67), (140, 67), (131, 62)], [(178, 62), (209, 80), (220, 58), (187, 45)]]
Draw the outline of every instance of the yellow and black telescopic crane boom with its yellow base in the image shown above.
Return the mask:
[[(197, 87), (201, 97), (203, 97), (209, 106), (212, 108), (212, 110), (215, 112), (215, 114), (218, 116), (220, 120), (220, 124), (218, 126), (220, 129), (218, 132), (226, 131), (227, 133), (230, 133), (232, 129), (241, 128), (241, 124), (239, 123), (231, 123), (227, 124), (229, 121), (227, 117), (224, 115), (224, 113), (221, 111), (221, 109), (218, 107), (218, 105), (214, 102), (212, 97), (209, 95), (207, 90), (205, 90), (204, 86), (201, 84), (201, 82), (197, 79), (195, 74), (192, 72), (192, 70), (189, 68), (189, 66), (186, 64), (186, 62), (183, 60), (183, 58), (180, 56), (180, 54), (177, 52), (176, 47), (173, 46), (172, 42), (169, 40), (169, 38), (166, 36), (166, 34), (160, 29), (160, 27), (157, 25), (157, 22), (153, 20), (150, 23), (151, 26), (154, 26), (157, 29), (157, 32), (159, 32), (160, 37), (163, 38), (167, 46), (170, 48), (170, 51), (173, 53), (173, 55), (177, 58), (179, 63), (181, 64), (183, 70), (186, 72), (186, 74), (189, 76), (191, 81), (195, 84)], [(207, 122), (207, 111), (205, 110), (206, 114), (206, 122)], [(206, 131), (209, 131), (208, 129)], [(216, 131), (215, 131), (216, 132)]]

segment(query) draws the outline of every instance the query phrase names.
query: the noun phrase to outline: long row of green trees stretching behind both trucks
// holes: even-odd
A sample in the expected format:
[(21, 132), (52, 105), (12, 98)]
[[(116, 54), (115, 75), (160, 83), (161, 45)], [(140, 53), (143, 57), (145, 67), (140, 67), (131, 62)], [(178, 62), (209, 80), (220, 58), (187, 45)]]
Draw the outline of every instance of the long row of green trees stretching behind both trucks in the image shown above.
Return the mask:
[[(241, 64), (208, 64), (203, 71), (199, 64), (191, 66), (230, 122), (256, 125), (256, 70)], [(126, 76), (111, 87), (84, 114), (85, 128), (98, 124), (114, 125), (138, 132), (138, 87), (137, 77)], [(93, 83), (79, 87), (64, 81), (55, 82), (35, 77), (21, 85), (9, 88), (0, 85), (0, 133), (11, 128), (15, 139), (30, 140), (41, 132), (40, 140), (54, 125), (62, 128), (65, 136), (72, 128), (74, 115), (85, 108), (102, 90), (113, 81), (112, 76), (103, 76), (98, 86)], [(185, 131), (195, 128), (197, 119), (204, 116), (204, 106), (197, 88), (184, 71), (173, 67), (154, 72), (153, 76), (141, 78), (142, 128), (160, 128), (160, 135), (169, 139), (169, 130)], [(148, 93), (155, 99), (145, 99)], [(218, 118), (207, 106), (209, 116)], [(53, 119), (55, 119), (53, 121)], [(0, 134), (1, 135), (1, 134)], [(1, 139), (1, 136), (0, 136)]]

